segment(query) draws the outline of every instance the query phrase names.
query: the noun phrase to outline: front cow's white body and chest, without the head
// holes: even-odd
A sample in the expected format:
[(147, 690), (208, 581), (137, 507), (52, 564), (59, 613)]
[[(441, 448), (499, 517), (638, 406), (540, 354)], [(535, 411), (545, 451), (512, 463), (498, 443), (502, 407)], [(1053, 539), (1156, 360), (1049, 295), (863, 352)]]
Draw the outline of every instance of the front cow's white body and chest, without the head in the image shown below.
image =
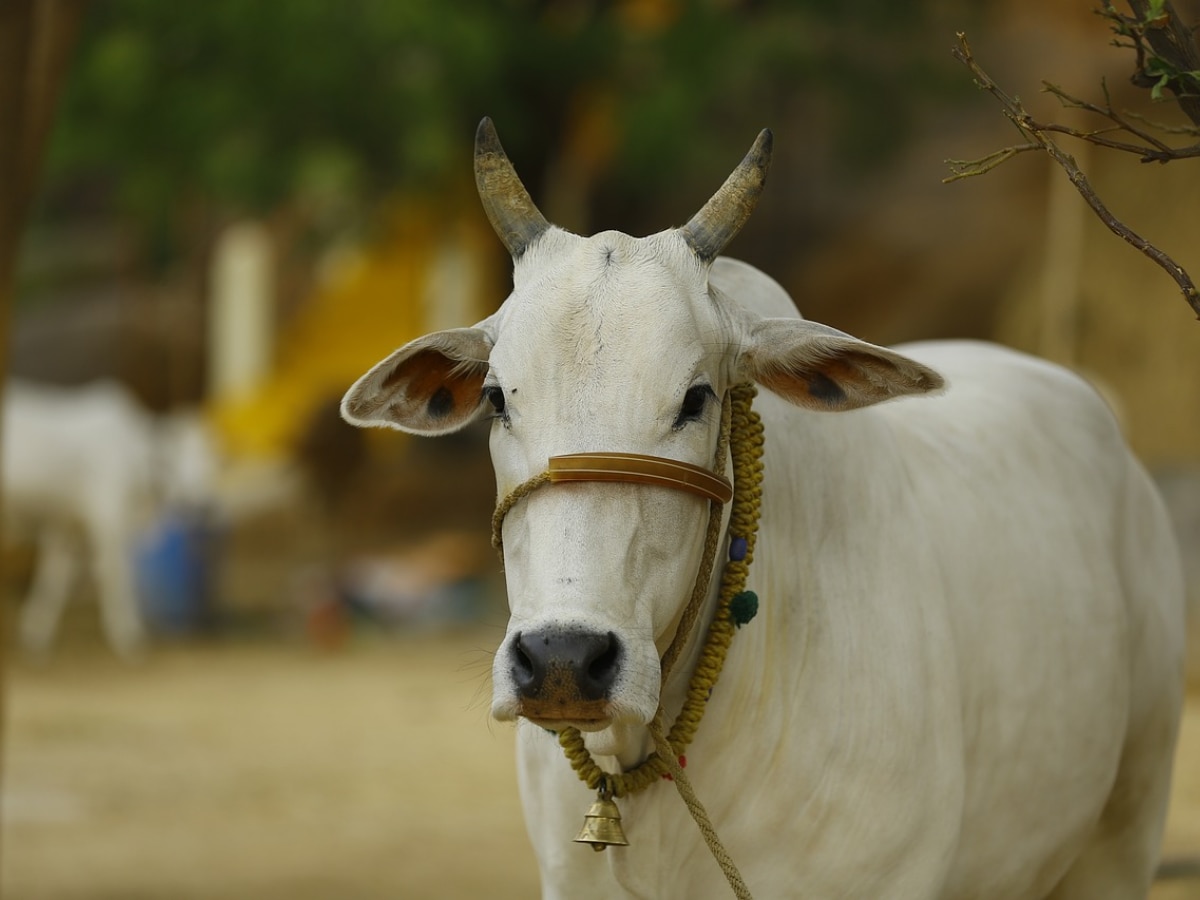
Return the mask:
[[(1180, 703), (1162, 505), (1078, 378), (899, 349), (948, 390), (836, 416), (756, 400), (761, 612), (686, 770), (756, 896), (1044, 898), (1084, 847), (1104, 862), (1063, 896), (1138, 896), (1110, 866), (1153, 869)], [(730, 895), (671, 785), (622, 803), (629, 848), (582, 853), (592, 792), (541, 728), (518, 746), (545, 896)], [(1142, 821), (1105, 810), (1114, 787)], [(1136, 838), (1108, 846), (1112, 827)]]

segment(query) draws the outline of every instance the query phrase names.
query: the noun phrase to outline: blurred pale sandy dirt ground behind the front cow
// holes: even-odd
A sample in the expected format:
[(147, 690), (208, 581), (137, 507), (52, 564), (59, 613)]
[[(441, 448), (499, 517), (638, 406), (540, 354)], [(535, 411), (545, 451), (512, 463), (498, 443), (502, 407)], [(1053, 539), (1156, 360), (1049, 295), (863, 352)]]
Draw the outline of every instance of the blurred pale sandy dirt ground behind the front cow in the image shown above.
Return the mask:
[[(6, 900), (534, 898), (494, 628), (11, 667)], [(1168, 857), (1200, 857), (1200, 696)], [(1200, 880), (1154, 900), (1200, 898)]]

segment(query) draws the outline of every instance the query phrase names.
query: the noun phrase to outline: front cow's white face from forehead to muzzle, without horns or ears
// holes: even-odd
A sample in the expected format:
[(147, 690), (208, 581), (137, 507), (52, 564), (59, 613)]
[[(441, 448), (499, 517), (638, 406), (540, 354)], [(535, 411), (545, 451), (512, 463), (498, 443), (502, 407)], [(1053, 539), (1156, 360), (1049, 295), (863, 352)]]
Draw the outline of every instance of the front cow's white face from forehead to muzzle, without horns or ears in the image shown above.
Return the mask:
[[(686, 244), (553, 232), (526, 257), (482, 384), (500, 497), (562, 454), (712, 468), (734, 329)], [(707, 521), (703, 498), (643, 485), (553, 485), (517, 503), (504, 522), (512, 618), (493, 714), (648, 721)]]

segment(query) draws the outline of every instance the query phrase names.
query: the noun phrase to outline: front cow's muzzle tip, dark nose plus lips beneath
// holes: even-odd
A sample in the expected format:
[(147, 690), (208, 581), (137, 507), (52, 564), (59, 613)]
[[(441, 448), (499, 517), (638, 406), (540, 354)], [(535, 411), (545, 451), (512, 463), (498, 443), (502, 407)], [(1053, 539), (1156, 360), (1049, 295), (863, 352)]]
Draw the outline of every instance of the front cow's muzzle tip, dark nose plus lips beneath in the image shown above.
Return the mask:
[(509, 646), (517, 714), (535, 722), (606, 724), (622, 655), (611, 631), (518, 632)]

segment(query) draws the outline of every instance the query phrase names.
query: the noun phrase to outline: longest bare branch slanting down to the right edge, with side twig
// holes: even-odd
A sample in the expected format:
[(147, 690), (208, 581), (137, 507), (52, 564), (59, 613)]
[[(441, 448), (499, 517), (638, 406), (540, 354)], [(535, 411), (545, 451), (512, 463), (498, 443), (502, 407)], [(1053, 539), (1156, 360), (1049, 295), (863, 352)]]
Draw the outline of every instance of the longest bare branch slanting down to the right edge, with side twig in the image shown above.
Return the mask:
[[(1192, 277), (1187, 274), (1183, 266), (1109, 212), (1108, 208), (1096, 194), (1096, 191), (1092, 190), (1092, 185), (1087, 180), (1087, 176), (1084, 175), (1079, 166), (1075, 163), (1074, 157), (1060, 148), (1050, 137), (1051, 131), (1062, 131), (1062, 127), (1058, 126), (1051, 128), (1049, 126), (1040, 125), (1030, 118), (1028, 113), (1025, 112), (1025, 107), (1021, 106), (1020, 100), (1010, 97), (1006, 94), (1000, 85), (997, 85), (991, 77), (979, 67), (974, 56), (971, 55), (971, 46), (967, 43), (966, 35), (960, 31), (958, 34), (958, 38), (959, 46), (955, 47), (952, 53), (959, 62), (967, 67), (974, 77), (976, 84), (982, 90), (988, 91), (996, 100), (998, 100), (1001, 106), (1004, 108), (1004, 115), (1008, 116), (1009, 121), (1012, 121), (1034, 146), (1044, 150), (1050, 158), (1058, 164), (1058, 167), (1067, 174), (1067, 178), (1070, 179), (1075, 190), (1079, 191), (1087, 205), (1092, 209), (1097, 217), (1104, 222), (1105, 227), (1108, 227), (1110, 232), (1116, 234), (1127, 244), (1140, 250), (1146, 257), (1157, 263), (1168, 275), (1171, 276), (1171, 278), (1175, 280), (1175, 283), (1180, 286), (1180, 290), (1183, 293), (1183, 299), (1187, 301), (1188, 306), (1192, 307), (1196, 318), (1200, 319), (1200, 293), (1196, 292), (1196, 287), (1192, 282)], [(949, 162), (948, 164), (954, 174), (944, 180), (954, 181), (960, 178), (983, 174), (1015, 155), (1016, 151), (1014, 148), (1007, 148), (1006, 150), (1000, 150), (990, 156), (983, 157), (982, 161), (978, 161), (979, 164), (974, 168), (971, 167), (971, 163), (956, 164), (954, 162)]]

